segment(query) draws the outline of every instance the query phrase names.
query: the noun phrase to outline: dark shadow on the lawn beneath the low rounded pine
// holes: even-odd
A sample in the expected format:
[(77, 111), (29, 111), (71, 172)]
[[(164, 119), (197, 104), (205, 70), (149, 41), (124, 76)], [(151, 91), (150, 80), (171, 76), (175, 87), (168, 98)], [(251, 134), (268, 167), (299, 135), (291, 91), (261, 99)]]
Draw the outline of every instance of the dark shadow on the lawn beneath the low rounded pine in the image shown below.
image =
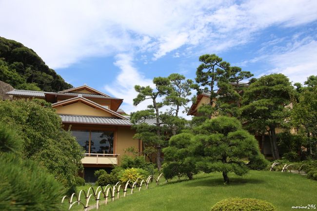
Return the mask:
[[(226, 186), (238, 186), (244, 184), (261, 184), (265, 183), (265, 180), (253, 179), (253, 178), (230, 178), (230, 184)], [(210, 178), (210, 179), (197, 179), (193, 182), (184, 184), (185, 186), (197, 187), (197, 186), (224, 186), (222, 178)]]

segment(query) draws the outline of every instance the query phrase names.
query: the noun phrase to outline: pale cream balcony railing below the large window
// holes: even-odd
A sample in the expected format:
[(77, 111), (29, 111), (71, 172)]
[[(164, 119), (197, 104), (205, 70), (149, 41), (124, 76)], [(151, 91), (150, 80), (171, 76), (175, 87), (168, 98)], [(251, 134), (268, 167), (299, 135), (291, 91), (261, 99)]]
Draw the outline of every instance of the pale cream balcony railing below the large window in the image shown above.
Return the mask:
[(82, 164), (113, 164), (118, 165), (119, 154), (85, 153)]

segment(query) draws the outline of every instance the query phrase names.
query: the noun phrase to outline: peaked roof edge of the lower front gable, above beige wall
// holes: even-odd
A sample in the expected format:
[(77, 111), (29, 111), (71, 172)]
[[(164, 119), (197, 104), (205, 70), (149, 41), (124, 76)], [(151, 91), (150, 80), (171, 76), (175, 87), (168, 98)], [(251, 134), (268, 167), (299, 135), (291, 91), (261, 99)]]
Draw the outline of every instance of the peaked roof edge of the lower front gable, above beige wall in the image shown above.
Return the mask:
[(68, 104), (71, 104), (71, 103), (74, 103), (74, 102), (78, 102), (78, 101), (81, 101), (81, 102), (83, 102), (83, 103), (85, 103), (87, 105), (90, 105), (92, 107), (99, 108), (100, 110), (108, 112), (108, 113), (110, 113), (112, 115), (115, 115), (115, 116), (121, 118), (121, 119), (127, 119), (126, 117), (124, 117), (123, 115), (118, 114), (117, 112), (114, 112), (114, 111), (112, 111), (110, 109), (102, 107), (98, 103), (95, 103), (95, 102), (93, 102), (93, 101), (91, 101), (91, 100), (89, 100), (87, 98), (82, 97), (80, 94), (77, 97), (66, 99), (66, 100), (63, 100), (63, 101), (59, 101), (57, 103), (53, 103), (52, 107), (54, 108), (54, 107), (61, 106), (61, 105), (68, 105)]

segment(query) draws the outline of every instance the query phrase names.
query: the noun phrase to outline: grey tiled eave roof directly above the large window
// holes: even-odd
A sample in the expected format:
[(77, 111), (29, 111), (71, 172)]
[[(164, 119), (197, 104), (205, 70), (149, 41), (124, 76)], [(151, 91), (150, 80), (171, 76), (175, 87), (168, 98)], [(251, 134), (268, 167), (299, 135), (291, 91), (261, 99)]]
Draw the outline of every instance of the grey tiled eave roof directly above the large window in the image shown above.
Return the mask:
[[(102, 125), (133, 125), (129, 119), (120, 119), (116, 117), (99, 117), (84, 115), (59, 115), (64, 123), (81, 123), (81, 124), (102, 124)], [(128, 118), (128, 116), (125, 116)], [(155, 119), (147, 119), (145, 123), (155, 125)]]

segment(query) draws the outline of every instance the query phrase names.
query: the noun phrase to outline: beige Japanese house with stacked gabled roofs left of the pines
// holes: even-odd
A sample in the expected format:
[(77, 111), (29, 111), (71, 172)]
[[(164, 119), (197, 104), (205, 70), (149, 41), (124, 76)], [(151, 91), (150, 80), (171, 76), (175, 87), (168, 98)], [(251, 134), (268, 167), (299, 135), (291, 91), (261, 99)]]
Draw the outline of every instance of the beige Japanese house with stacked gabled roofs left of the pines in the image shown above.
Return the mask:
[[(52, 103), (60, 115), (64, 129), (70, 128), (85, 150), (81, 160), (84, 178), (93, 182), (94, 172), (118, 165), (125, 149), (135, 147), (142, 152), (142, 141), (134, 139), (129, 116), (119, 109), (123, 99), (109, 96), (87, 85), (58, 93), (12, 90), (14, 99), (40, 98)], [(155, 124), (147, 120), (148, 124)]]

